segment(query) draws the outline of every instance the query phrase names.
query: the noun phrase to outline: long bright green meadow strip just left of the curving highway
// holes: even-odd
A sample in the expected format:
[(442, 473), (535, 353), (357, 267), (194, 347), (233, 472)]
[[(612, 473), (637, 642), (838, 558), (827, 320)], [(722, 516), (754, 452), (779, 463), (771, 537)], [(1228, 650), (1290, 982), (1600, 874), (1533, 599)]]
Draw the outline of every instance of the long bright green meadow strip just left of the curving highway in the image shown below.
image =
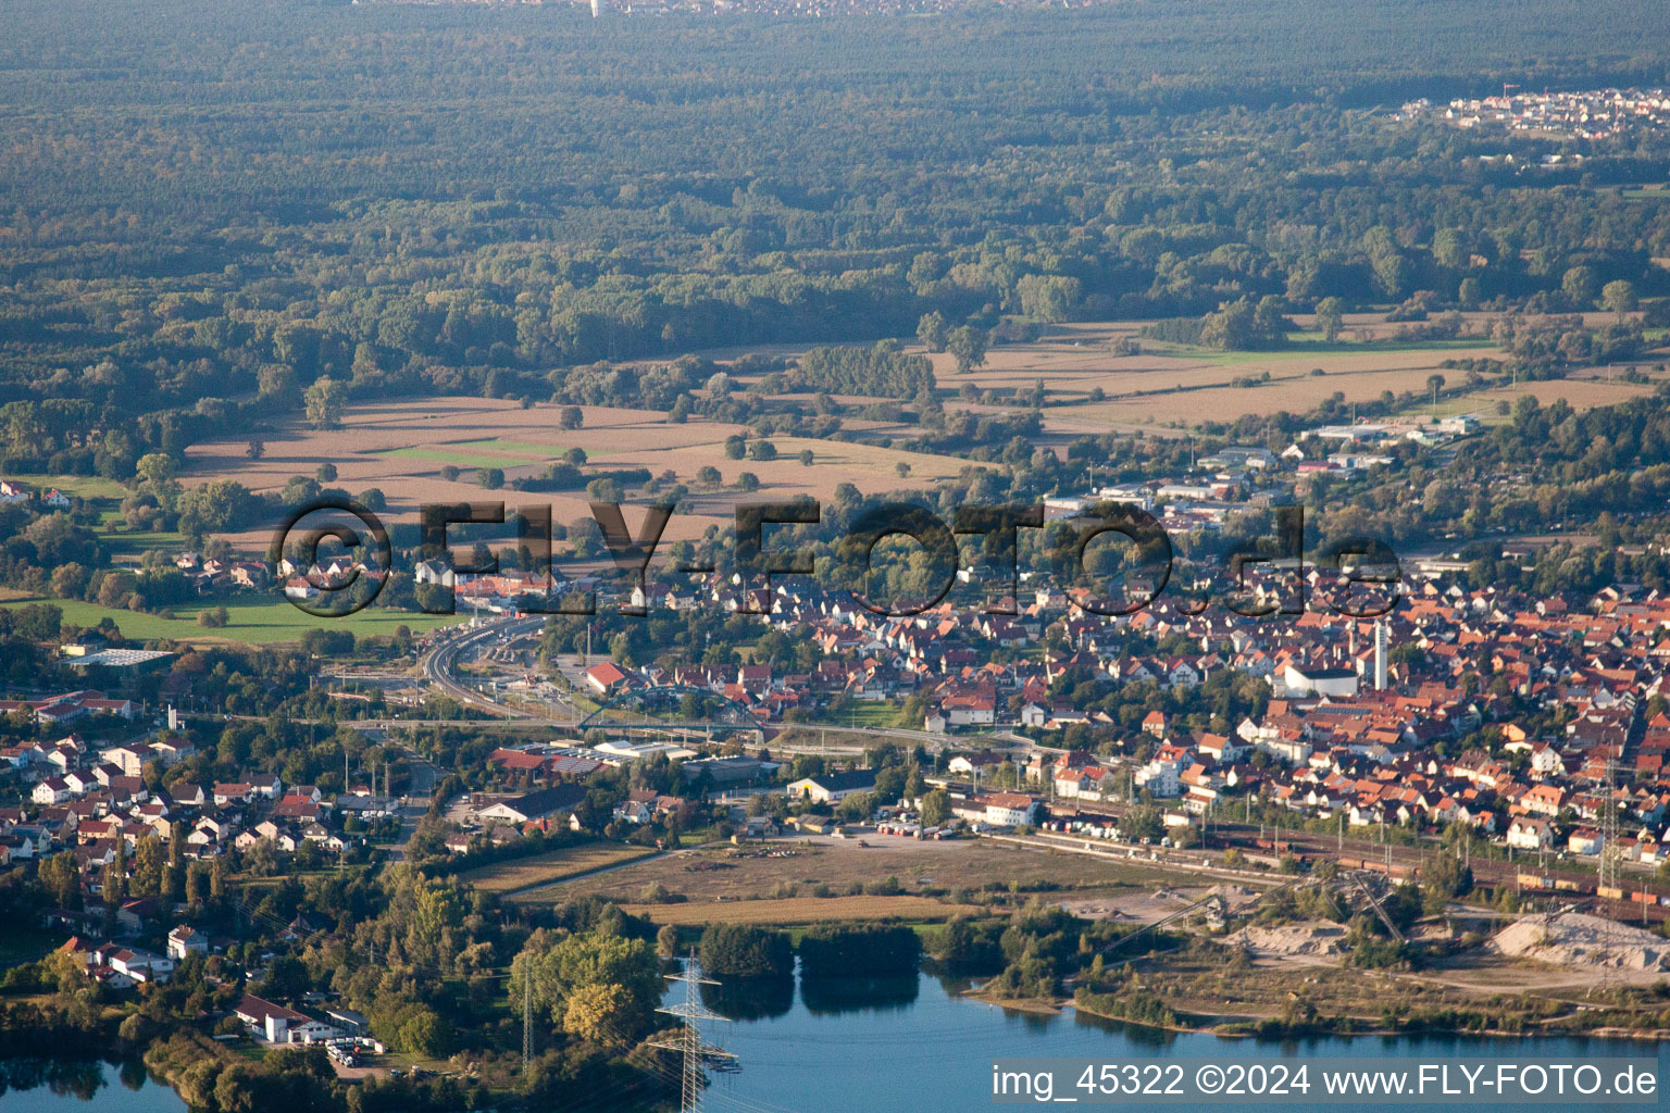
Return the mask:
[[(177, 607), (174, 619), (157, 614), (137, 614), (134, 611), (115, 611), (97, 602), (78, 599), (12, 599), (0, 606), (20, 606), (23, 602), (50, 602), (63, 611), (63, 621), (75, 626), (97, 626), (105, 616), (112, 617), (122, 629), (122, 636), (134, 641), (150, 641), (154, 637), (172, 637), (175, 641), (220, 639), (249, 644), (269, 644), (296, 641), (311, 629), (347, 629), (356, 636), (392, 634), (396, 627), (406, 626), (414, 634), (458, 622), (449, 614), (411, 614), (406, 611), (384, 611), (369, 607), (342, 619), (321, 619), (304, 614), (289, 601), (276, 596), (247, 596), (225, 604), (230, 622), (222, 629), (205, 629), (197, 626), (199, 606)], [(215, 606), (214, 602), (209, 604)]]

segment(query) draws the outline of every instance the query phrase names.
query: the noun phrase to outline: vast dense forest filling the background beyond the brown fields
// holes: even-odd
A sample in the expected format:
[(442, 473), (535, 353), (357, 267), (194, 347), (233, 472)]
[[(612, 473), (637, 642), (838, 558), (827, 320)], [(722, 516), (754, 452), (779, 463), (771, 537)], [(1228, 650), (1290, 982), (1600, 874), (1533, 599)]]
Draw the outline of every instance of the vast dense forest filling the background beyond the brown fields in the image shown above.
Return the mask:
[[(1622, 0), (12, 5), (0, 402), (35, 405), (0, 456), (127, 479), (210, 431), (389, 394), (670, 409), (706, 377), (571, 369), (924, 317), (959, 350), (1017, 317), (1652, 299), (1670, 210), (1612, 187), (1663, 180), (1663, 138), (1578, 150), (1388, 107), (1662, 82), (1655, 22)], [(922, 392), (907, 365), (840, 379)]]

